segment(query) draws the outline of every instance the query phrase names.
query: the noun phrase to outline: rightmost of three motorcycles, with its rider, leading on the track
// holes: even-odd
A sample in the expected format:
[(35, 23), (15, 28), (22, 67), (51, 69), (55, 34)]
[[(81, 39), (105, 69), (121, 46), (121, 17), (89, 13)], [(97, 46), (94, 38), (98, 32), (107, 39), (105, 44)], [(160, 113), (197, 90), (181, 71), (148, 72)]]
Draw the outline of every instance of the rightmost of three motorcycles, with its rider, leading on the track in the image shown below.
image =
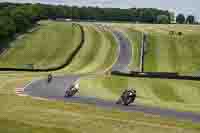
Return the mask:
[(121, 97), (117, 100), (116, 104), (122, 104), (128, 106), (133, 103), (136, 98), (136, 91), (133, 89), (125, 90)]

